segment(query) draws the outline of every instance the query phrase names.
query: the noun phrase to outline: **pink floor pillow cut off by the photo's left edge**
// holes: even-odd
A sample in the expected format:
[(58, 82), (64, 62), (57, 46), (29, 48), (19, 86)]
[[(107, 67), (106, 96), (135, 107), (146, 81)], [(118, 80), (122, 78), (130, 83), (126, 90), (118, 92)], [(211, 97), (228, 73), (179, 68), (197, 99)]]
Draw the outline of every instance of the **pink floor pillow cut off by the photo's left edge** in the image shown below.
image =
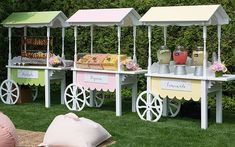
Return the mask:
[(17, 135), (12, 121), (0, 112), (0, 147), (16, 147)]

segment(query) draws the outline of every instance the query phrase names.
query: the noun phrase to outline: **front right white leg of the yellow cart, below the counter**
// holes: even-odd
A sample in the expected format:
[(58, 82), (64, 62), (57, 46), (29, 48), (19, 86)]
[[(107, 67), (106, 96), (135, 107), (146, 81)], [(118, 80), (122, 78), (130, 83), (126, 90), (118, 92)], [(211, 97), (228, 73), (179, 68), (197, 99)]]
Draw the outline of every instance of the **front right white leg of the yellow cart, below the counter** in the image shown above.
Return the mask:
[(202, 96), (201, 96), (201, 128), (208, 127), (208, 101), (207, 101), (207, 81), (202, 81)]

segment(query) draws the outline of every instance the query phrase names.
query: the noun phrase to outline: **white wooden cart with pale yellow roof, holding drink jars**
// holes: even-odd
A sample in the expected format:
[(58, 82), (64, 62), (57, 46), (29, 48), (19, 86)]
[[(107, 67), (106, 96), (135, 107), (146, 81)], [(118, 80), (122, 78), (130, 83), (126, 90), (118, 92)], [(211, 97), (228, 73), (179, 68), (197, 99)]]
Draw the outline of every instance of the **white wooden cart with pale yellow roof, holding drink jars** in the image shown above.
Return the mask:
[[(215, 77), (208, 66), (206, 53), (207, 27), (218, 26), (218, 61), (221, 62), (220, 40), (221, 25), (229, 23), (229, 17), (220, 5), (152, 7), (141, 19), (148, 26), (149, 58), (147, 91), (137, 98), (137, 112), (141, 119), (158, 121), (161, 115), (167, 115), (167, 98), (201, 101), (201, 128), (208, 127), (208, 94), (216, 94), (216, 122), (222, 123), (222, 82), (235, 80), (235, 75)], [(151, 57), (151, 30), (153, 26), (164, 28), (166, 43), (167, 26), (202, 26), (203, 30), (203, 76), (194, 76), (194, 67), (187, 67), (187, 75), (159, 74), (154, 72)], [(192, 71), (192, 72), (190, 72)], [(163, 100), (161, 98), (164, 98)]]

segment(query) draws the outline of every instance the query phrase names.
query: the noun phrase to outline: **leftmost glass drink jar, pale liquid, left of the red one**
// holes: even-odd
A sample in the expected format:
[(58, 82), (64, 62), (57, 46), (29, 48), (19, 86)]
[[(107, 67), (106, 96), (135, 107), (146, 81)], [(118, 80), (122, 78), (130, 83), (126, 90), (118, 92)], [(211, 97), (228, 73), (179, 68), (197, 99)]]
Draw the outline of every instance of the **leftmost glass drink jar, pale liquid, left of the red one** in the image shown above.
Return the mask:
[(160, 64), (169, 64), (171, 61), (171, 51), (165, 45), (157, 51), (157, 58)]

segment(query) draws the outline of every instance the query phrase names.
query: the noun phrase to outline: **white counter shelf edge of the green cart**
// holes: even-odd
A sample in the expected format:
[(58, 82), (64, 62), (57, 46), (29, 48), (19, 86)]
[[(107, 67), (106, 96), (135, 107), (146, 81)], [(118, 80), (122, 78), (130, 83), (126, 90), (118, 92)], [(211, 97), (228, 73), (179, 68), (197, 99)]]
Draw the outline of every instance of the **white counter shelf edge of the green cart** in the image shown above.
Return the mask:
[(71, 67), (46, 67), (46, 66), (6, 66), (7, 68), (17, 69), (49, 69), (49, 70), (70, 70)]

